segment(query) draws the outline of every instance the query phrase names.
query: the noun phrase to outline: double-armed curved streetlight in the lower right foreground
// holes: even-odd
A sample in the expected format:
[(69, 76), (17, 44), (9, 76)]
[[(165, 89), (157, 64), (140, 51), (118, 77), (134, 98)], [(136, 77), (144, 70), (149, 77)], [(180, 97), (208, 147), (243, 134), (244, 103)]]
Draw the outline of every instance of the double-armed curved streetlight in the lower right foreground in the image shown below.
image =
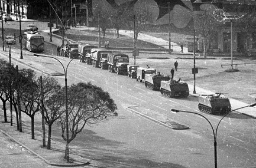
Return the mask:
[(205, 118), (205, 120), (208, 121), (208, 123), (210, 124), (210, 127), (212, 128), (212, 132), (213, 132), (213, 139), (214, 139), (214, 161), (215, 161), (215, 168), (217, 168), (217, 131), (218, 131), (218, 128), (219, 128), (219, 124), (221, 123), (222, 119), (224, 117), (226, 117), (226, 115), (228, 115), (229, 113), (231, 113), (232, 111), (235, 111), (235, 110), (239, 110), (241, 108), (245, 108), (245, 107), (254, 107), (256, 106), (256, 103), (253, 103), (253, 104), (250, 104), (248, 106), (244, 106), (244, 107), (240, 107), (240, 108), (236, 108), (234, 110), (231, 110), (229, 111), (228, 113), (226, 113), (222, 118), (221, 120), (219, 120), (219, 123), (216, 127), (216, 129), (214, 130), (213, 129), (213, 126), (212, 126), (212, 123), (210, 123), (210, 121), (208, 120), (208, 118), (206, 118), (205, 116), (203, 116), (202, 114), (199, 114), (199, 113), (196, 113), (196, 112), (192, 112), (192, 111), (183, 111), (183, 110), (177, 110), (177, 109), (171, 109), (171, 112), (172, 113), (178, 113), (178, 112), (184, 112), (184, 113), (192, 113), (192, 114), (197, 114), (203, 118)]

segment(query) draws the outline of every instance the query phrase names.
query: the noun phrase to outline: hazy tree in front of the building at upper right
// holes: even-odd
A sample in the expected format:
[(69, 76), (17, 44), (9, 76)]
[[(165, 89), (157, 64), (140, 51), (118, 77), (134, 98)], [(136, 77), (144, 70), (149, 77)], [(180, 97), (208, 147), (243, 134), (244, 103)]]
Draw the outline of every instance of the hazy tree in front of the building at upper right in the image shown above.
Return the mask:
[(210, 41), (218, 35), (222, 22), (218, 22), (213, 16), (213, 11), (203, 12), (195, 15), (194, 28), (196, 34), (203, 42), (203, 57), (206, 57)]

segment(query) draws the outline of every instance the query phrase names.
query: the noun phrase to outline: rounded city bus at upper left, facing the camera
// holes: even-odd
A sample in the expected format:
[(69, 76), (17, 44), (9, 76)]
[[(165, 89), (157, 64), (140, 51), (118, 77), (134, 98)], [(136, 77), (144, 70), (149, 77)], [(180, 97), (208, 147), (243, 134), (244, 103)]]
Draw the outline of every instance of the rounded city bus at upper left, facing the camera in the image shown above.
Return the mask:
[(25, 34), (25, 48), (31, 52), (44, 51), (44, 37), (40, 34)]

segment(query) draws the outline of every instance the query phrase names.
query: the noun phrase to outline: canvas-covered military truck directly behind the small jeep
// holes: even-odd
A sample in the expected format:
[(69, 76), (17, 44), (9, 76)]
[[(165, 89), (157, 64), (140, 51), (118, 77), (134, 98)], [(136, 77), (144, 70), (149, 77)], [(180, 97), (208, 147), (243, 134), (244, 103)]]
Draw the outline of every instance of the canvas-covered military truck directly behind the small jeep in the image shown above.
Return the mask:
[(129, 64), (128, 55), (121, 52), (109, 53), (107, 62), (109, 72), (127, 74), (127, 65)]

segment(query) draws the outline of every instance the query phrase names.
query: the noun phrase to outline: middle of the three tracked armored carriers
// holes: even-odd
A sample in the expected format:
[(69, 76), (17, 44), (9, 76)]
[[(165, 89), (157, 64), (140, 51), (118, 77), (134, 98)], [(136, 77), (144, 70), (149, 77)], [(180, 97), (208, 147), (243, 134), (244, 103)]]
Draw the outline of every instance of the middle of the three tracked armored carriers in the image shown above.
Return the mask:
[(161, 81), (161, 94), (167, 97), (187, 97), (189, 96), (189, 87), (183, 81), (168, 80)]

